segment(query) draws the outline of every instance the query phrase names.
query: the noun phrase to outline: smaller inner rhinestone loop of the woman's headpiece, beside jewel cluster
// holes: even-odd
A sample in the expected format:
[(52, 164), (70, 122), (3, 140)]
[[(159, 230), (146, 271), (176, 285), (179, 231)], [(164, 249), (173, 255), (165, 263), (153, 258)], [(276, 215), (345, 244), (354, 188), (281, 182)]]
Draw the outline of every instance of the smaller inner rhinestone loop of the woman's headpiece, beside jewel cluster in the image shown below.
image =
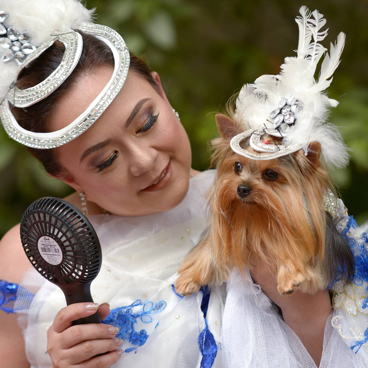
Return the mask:
[(75, 66), (77, 66), (83, 46), (82, 36), (72, 29), (69, 32), (70, 33), (59, 35), (51, 42), (43, 43), (20, 65), (17, 77), (26, 64), (29, 64), (32, 60), (39, 57), (56, 40), (60, 40), (65, 46), (65, 52), (61, 63), (44, 81), (27, 89), (19, 89), (15, 86), (10, 89), (7, 98), (12, 105), (17, 107), (31, 106), (49, 96), (69, 77)]

